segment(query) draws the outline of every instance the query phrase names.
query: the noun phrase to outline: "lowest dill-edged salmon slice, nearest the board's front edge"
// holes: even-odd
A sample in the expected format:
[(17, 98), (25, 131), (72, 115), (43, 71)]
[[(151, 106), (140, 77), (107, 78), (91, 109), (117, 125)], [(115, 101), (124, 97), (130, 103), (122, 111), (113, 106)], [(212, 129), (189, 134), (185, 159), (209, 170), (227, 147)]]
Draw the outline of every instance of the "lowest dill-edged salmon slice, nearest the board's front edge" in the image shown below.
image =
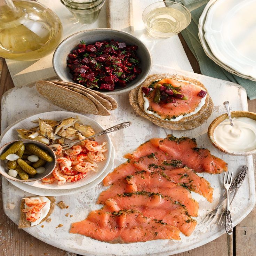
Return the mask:
[(92, 211), (85, 220), (72, 223), (70, 233), (78, 233), (110, 243), (181, 239), (177, 227), (145, 217), (133, 209), (113, 213), (103, 209)]

